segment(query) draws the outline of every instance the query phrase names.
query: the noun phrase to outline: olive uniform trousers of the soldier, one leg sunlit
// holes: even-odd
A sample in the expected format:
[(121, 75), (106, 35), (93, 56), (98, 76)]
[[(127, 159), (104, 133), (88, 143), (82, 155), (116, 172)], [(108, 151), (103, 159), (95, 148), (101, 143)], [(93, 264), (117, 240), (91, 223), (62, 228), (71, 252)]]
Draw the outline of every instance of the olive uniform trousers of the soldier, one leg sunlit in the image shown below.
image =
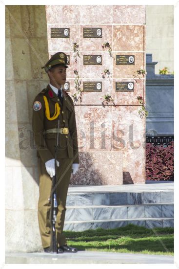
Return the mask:
[[(72, 173), (73, 158), (60, 158), (60, 167), (57, 167), (57, 203), (58, 212), (56, 219), (56, 240), (57, 247), (67, 244), (64, 234), (62, 234), (65, 212), (66, 212), (66, 197), (68, 192), (68, 186), (70, 182), (70, 177)], [(51, 222), (50, 222), (50, 195), (52, 178), (46, 171), (45, 164), (42, 162), (41, 158), (38, 157), (38, 168), (40, 175), (39, 182), (39, 202), (38, 202), (38, 221), (40, 228), (40, 237), (42, 242), (42, 247), (50, 247), (51, 240)], [(60, 181), (59, 181), (60, 180)], [(58, 183), (59, 182), (59, 183)]]

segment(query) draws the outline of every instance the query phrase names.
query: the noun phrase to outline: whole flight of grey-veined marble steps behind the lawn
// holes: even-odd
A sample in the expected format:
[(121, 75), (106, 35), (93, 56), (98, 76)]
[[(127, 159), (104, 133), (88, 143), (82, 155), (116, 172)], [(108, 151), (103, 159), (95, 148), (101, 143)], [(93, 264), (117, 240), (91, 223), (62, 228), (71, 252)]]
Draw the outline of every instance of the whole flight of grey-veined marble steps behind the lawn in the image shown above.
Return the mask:
[[(92, 187), (91, 187), (92, 189)], [(146, 191), (68, 192), (63, 230), (116, 228), (136, 224), (147, 228), (174, 226), (174, 192)]]

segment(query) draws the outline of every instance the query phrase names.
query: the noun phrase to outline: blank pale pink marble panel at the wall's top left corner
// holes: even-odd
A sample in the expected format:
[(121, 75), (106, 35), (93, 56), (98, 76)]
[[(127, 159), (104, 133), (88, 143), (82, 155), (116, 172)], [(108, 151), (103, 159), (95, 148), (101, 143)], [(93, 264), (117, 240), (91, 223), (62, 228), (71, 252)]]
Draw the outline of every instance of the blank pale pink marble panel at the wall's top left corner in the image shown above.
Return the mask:
[(46, 5), (47, 23), (80, 23), (80, 5)]

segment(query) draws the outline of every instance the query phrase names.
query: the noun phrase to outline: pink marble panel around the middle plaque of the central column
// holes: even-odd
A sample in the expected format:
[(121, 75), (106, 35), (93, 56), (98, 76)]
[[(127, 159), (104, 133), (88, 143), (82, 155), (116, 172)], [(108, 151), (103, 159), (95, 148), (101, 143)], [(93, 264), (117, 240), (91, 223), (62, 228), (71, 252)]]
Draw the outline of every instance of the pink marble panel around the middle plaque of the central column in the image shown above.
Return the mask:
[[(102, 55), (102, 65), (83, 65), (83, 55)], [(105, 69), (109, 69), (110, 74), (105, 75), (106, 78), (112, 78), (113, 58), (110, 57), (108, 51), (82, 51), (80, 52), (80, 77), (81, 78), (102, 78)]]

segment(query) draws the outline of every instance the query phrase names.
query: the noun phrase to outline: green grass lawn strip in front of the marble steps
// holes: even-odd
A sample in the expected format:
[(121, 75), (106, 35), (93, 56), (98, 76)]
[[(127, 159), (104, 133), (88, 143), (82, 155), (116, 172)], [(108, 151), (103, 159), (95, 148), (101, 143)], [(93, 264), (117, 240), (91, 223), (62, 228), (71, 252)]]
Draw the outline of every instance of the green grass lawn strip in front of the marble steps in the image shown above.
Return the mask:
[(115, 229), (63, 231), (69, 246), (78, 250), (174, 255), (174, 228), (128, 224)]

